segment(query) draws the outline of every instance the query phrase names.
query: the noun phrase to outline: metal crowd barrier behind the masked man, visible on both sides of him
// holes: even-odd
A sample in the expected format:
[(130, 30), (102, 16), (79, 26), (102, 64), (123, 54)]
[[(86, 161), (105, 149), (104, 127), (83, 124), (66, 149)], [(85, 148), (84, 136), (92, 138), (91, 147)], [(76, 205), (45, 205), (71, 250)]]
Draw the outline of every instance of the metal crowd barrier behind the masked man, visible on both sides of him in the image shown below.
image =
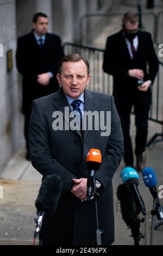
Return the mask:
[[(64, 52), (65, 54), (79, 53), (89, 61), (91, 80), (88, 89), (94, 92), (112, 94), (112, 76), (104, 73), (102, 69), (104, 49), (67, 42), (64, 44)], [(161, 124), (163, 127), (163, 80), (160, 79), (160, 74), (163, 76), (162, 62), (160, 62), (160, 72), (158, 72), (152, 87), (152, 105), (149, 113), (149, 120)]]

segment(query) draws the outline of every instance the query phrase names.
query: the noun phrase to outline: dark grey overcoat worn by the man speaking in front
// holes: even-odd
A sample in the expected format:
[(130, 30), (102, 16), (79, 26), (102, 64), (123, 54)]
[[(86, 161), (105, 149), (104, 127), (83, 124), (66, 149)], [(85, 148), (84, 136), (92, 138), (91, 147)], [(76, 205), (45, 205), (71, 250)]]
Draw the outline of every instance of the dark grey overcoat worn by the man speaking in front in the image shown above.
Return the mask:
[[(66, 244), (69, 229), (73, 229), (74, 245), (96, 244), (95, 202), (81, 202), (70, 192), (72, 178), (87, 178), (86, 156), (91, 148), (101, 150), (102, 164), (96, 178), (102, 183), (98, 198), (99, 227), (104, 230), (103, 244), (114, 241), (114, 212), (112, 176), (123, 156), (123, 136), (114, 99), (105, 94), (85, 90), (85, 111), (111, 111), (110, 136), (101, 136), (99, 131), (58, 130), (54, 131), (54, 111), (64, 114), (69, 107), (65, 94), (57, 93), (34, 100), (29, 125), (29, 144), (34, 168), (43, 176), (57, 174), (63, 181), (64, 189), (58, 209), (49, 228), (53, 229), (53, 244)], [(69, 107), (69, 111), (71, 109)], [(64, 122), (67, 122), (64, 115)], [(48, 229), (48, 228), (47, 228)]]

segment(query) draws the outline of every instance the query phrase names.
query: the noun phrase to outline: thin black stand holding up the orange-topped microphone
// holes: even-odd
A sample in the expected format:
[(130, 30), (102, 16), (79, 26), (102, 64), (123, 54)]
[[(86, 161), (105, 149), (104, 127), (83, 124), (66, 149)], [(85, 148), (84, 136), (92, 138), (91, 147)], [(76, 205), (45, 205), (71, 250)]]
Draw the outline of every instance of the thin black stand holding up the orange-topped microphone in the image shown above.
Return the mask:
[(98, 210), (97, 210), (97, 198), (99, 196), (99, 193), (96, 191), (96, 179), (95, 179), (95, 175), (92, 176), (92, 185), (93, 185), (93, 197), (95, 199), (95, 208), (96, 208), (96, 225), (97, 225), (97, 229), (96, 229), (96, 241), (97, 241), (97, 245), (102, 245), (102, 241), (101, 241), (101, 235), (102, 235), (102, 230), (99, 228), (99, 222), (98, 222)]

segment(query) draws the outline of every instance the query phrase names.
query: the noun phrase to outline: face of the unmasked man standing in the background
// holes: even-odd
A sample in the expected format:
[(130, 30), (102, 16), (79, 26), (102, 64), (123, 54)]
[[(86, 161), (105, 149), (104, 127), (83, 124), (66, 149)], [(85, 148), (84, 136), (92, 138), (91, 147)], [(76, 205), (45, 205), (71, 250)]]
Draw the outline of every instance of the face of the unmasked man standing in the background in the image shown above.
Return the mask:
[(32, 23), (35, 33), (39, 36), (45, 35), (48, 29), (48, 18), (39, 17), (35, 22)]

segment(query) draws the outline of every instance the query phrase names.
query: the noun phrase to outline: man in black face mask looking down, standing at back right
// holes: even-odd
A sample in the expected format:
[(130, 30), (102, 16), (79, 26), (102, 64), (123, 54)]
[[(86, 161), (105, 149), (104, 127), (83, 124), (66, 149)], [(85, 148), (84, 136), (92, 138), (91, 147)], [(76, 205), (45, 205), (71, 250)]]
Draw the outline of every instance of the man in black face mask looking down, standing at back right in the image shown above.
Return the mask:
[[(148, 66), (148, 69), (147, 69)], [(137, 170), (145, 167), (148, 113), (151, 105), (151, 86), (158, 71), (151, 34), (139, 31), (138, 17), (128, 12), (122, 20), (122, 30), (108, 37), (104, 52), (104, 72), (114, 78), (114, 99), (120, 115), (124, 136), (124, 162), (133, 166), (134, 156), (129, 135), (130, 112), (134, 105)]]

